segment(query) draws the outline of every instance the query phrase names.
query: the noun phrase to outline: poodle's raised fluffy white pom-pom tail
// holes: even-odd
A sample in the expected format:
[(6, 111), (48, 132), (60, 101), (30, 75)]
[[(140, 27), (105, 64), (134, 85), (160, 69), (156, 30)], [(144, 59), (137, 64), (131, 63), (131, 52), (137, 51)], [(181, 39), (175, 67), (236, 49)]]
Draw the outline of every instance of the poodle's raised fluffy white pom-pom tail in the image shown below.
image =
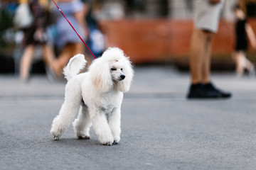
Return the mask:
[(67, 80), (72, 79), (75, 75), (77, 75), (81, 69), (85, 67), (86, 60), (85, 56), (78, 54), (70, 59), (67, 66), (63, 69), (63, 74)]

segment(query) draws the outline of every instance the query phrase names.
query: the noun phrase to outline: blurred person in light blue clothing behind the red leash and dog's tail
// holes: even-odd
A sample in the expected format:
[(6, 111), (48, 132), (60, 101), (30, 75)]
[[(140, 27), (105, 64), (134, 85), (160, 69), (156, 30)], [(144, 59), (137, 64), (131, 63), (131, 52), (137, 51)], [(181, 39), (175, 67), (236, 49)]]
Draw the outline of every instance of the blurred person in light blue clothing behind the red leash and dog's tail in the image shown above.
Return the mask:
[[(80, 37), (86, 41), (89, 33), (85, 22), (85, 13), (87, 7), (80, 0), (58, 0), (57, 5), (63, 11), (68, 21), (72, 23)], [(82, 43), (78, 35), (75, 33), (62, 16), (58, 8), (53, 11), (56, 16), (57, 36), (55, 44), (60, 50), (60, 55), (53, 62), (53, 69), (58, 77), (62, 77), (63, 67), (68, 64), (68, 61), (78, 53), (85, 53), (85, 45)]]

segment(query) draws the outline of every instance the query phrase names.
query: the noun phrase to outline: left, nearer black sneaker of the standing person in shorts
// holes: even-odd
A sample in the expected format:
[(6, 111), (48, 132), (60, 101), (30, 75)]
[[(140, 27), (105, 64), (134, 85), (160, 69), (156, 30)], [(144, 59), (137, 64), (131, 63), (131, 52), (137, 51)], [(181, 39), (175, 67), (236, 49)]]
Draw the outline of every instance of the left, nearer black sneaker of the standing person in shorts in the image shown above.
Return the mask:
[(211, 91), (205, 88), (203, 84), (191, 84), (188, 98), (220, 98), (218, 91)]

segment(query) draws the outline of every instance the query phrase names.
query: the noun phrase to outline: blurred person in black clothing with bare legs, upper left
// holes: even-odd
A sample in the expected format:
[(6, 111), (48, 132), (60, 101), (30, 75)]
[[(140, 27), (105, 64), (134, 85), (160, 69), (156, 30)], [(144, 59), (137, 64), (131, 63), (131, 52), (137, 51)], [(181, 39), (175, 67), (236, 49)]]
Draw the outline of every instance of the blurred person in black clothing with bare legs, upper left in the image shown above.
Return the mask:
[(16, 15), (17, 17), (14, 18), (15, 23), (18, 21), (22, 22), (27, 20), (26, 24), (28, 24), (28, 26), (25, 26), (25, 24), (24, 27), (21, 28), (24, 33), (22, 42), (24, 52), (21, 57), (20, 78), (23, 81), (27, 81), (30, 76), (31, 62), (33, 60), (36, 45), (42, 45), (43, 59), (46, 62), (47, 67), (53, 67), (53, 60), (55, 56), (51, 47), (47, 45), (46, 21), (43, 16), (43, 8), (39, 4), (38, 0), (28, 0), (27, 3), (28, 11), (26, 11), (26, 8), (24, 8), (21, 12), (30, 16), (31, 22), (28, 20), (28, 18), (22, 18), (23, 13), (18, 13), (18, 15)]

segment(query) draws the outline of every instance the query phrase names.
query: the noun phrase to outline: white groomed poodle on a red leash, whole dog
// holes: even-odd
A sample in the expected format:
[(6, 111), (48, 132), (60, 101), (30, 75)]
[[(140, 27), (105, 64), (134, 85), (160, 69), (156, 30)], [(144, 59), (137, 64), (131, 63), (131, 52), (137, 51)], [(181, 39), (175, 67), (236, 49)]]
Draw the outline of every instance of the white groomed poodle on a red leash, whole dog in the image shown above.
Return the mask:
[(90, 126), (103, 145), (120, 140), (120, 118), (123, 92), (129, 91), (134, 76), (131, 62), (117, 47), (107, 49), (94, 60), (88, 72), (78, 74), (85, 67), (84, 55), (75, 55), (64, 68), (65, 102), (53, 119), (50, 133), (58, 140), (73, 122), (79, 139), (90, 139)]

